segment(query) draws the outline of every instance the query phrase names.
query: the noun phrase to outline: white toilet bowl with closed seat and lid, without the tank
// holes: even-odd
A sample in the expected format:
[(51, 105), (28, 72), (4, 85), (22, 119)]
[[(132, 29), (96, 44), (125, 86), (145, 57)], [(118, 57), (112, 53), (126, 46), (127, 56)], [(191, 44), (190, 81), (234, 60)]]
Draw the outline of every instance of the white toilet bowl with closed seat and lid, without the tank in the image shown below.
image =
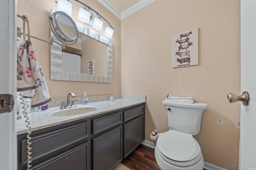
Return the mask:
[(161, 170), (202, 170), (204, 159), (198, 142), (190, 134), (169, 130), (160, 134), (155, 158)]

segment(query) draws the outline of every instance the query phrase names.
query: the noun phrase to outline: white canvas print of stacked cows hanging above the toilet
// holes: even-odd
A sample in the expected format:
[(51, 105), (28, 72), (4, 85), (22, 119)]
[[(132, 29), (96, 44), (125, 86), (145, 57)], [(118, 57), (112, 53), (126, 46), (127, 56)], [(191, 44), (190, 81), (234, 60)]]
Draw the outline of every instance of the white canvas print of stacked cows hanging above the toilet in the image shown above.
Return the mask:
[(172, 35), (172, 68), (198, 65), (198, 28)]

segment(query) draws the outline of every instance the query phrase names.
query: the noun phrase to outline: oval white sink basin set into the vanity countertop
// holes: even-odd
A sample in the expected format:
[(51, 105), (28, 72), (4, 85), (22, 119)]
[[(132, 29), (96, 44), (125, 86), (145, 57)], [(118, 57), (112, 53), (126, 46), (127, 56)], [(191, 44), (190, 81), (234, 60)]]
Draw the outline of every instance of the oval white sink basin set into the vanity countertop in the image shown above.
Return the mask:
[(52, 113), (51, 116), (54, 116), (54, 117), (74, 116), (74, 115), (90, 113), (90, 112), (96, 111), (97, 109), (98, 109), (97, 106), (73, 107), (73, 108), (56, 111)]

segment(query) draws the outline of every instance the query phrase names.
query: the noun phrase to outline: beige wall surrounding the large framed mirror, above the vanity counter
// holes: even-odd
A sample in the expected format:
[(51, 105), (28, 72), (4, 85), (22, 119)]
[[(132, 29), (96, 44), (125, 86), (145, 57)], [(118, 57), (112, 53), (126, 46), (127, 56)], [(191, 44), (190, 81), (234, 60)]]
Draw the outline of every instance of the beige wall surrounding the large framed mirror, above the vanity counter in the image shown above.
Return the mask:
[[(83, 0), (82, 0), (83, 1)], [(73, 6), (79, 6), (77, 2), (70, 0)], [(98, 11), (115, 28), (113, 38), (113, 82), (112, 83), (93, 83), (93, 82), (73, 82), (50, 80), (50, 45), (42, 41), (32, 39), (32, 44), (36, 48), (38, 61), (42, 66), (46, 82), (48, 84), (50, 96), (52, 98), (66, 98), (69, 92), (74, 92), (77, 97), (84, 96), (83, 92), (88, 92), (88, 96), (120, 94), (120, 20), (102, 6), (97, 0), (84, 0), (94, 10)], [(82, 7), (82, 6), (79, 6)], [(26, 14), (30, 21), (30, 33), (33, 36), (48, 40), (50, 37), (50, 28), (48, 26), (48, 16), (50, 9), (57, 10), (57, 4), (54, 0), (19, 0), (18, 14)], [(78, 11), (78, 8), (76, 8)], [(72, 18), (77, 18), (77, 11), (74, 10)], [(18, 19), (20, 20), (20, 19)], [(79, 20), (76, 20), (79, 21)], [(79, 21), (80, 22), (80, 21)], [(84, 24), (87, 26), (86, 24)], [(106, 25), (105, 25), (106, 26)], [(90, 27), (90, 26), (87, 26)], [(97, 31), (93, 27), (90, 29), (104, 35), (104, 26), (102, 31)], [(18, 42), (19, 43), (19, 42)]]

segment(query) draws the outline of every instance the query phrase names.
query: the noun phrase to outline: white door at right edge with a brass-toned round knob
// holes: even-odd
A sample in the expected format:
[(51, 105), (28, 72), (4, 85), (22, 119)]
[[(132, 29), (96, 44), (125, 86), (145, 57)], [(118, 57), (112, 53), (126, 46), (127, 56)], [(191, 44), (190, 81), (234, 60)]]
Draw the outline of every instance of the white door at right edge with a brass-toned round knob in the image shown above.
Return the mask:
[(256, 0), (241, 0), (241, 92), (250, 95), (241, 104), (239, 169), (256, 168)]

